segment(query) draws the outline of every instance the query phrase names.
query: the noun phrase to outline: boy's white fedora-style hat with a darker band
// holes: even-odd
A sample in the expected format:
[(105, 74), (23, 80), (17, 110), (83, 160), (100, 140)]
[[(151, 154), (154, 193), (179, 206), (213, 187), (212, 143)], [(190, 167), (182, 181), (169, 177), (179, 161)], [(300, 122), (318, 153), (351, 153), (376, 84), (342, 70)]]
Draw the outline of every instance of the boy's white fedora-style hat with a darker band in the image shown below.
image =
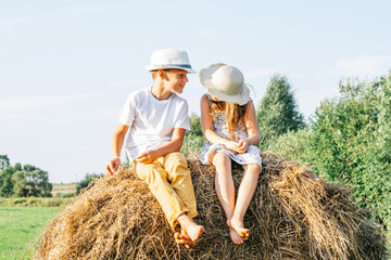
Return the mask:
[(151, 64), (146, 66), (148, 72), (157, 69), (178, 68), (194, 74), (191, 68), (189, 57), (186, 51), (163, 49), (152, 53)]

